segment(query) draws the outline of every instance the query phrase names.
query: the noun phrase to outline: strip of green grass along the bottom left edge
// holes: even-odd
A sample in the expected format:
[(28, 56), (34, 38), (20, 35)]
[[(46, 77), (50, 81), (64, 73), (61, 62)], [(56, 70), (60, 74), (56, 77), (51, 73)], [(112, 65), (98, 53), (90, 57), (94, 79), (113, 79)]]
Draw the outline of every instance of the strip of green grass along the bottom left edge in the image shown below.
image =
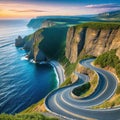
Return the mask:
[(46, 117), (40, 113), (29, 113), (29, 114), (0, 114), (0, 120), (58, 120), (54, 117)]

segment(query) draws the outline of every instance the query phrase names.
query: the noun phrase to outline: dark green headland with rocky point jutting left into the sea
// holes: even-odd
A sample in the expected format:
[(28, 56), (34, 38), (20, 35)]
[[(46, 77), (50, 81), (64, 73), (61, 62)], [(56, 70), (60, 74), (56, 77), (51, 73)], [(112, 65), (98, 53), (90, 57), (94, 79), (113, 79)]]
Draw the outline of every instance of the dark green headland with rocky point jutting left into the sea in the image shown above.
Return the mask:
[(36, 62), (58, 60), (65, 52), (67, 27), (50, 27), (37, 30), (24, 38), (20, 36), (16, 46), (28, 51), (28, 58)]

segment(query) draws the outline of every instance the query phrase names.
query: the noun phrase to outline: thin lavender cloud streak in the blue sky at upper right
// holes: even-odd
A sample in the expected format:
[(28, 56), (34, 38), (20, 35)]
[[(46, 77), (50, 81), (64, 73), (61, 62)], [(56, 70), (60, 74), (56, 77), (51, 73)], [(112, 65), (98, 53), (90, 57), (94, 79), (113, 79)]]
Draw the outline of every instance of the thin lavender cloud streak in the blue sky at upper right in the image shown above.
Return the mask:
[(119, 8), (119, 4), (109, 3), (109, 4), (90, 4), (85, 6), (86, 8)]

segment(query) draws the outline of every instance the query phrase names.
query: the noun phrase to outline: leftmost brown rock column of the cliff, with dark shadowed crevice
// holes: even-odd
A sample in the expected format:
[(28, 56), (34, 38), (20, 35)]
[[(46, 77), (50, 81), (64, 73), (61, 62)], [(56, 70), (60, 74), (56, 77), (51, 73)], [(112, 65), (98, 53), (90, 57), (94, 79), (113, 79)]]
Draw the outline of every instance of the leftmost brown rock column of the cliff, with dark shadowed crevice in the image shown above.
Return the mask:
[(86, 28), (81, 28), (79, 32), (75, 27), (71, 27), (67, 33), (66, 40), (66, 57), (70, 62), (75, 62), (85, 44)]

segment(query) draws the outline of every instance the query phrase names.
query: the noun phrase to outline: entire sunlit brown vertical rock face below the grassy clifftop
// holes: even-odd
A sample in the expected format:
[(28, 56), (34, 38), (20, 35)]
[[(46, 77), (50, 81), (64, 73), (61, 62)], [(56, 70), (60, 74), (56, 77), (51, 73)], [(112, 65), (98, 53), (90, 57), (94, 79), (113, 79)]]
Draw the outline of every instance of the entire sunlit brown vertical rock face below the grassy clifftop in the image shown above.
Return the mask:
[(66, 57), (71, 63), (76, 62), (79, 55), (99, 56), (103, 52), (117, 48), (117, 56), (120, 57), (120, 28), (71, 27), (68, 30)]

